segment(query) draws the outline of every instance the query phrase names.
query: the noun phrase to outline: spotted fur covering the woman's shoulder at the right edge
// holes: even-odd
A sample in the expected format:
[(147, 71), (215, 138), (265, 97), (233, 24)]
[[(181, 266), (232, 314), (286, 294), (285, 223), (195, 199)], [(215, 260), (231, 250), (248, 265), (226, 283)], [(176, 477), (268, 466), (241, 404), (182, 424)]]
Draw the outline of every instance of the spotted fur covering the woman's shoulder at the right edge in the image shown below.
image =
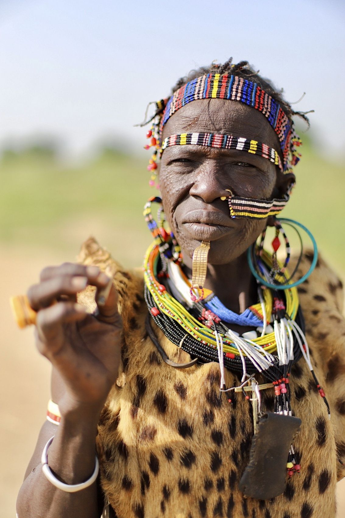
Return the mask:
[[(312, 258), (312, 252), (304, 253), (298, 266), (297, 277), (305, 275)], [(337, 455), (340, 460), (337, 462), (337, 479), (340, 480), (345, 476), (343, 285), (334, 270), (319, 257), (310, 277), (298, 286), (298, 294), (306, 323), (312, 365), (319, 383), (324, 388), (335, 429)]]

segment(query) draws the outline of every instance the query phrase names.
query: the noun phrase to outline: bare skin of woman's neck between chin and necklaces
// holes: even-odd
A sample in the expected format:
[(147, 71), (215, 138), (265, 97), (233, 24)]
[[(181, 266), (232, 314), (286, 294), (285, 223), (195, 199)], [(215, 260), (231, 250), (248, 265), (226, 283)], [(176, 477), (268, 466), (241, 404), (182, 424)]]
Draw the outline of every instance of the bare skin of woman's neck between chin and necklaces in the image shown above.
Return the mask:
[[(192, 278), (191, 258), (184, 262), (183, 271)], [(212, 290), (224, 306), (236, 313), (242, 313), (257, 302), (256, 282), (251, 275), (246, 253), (231, 263), (208, 264), (204, 287)]]

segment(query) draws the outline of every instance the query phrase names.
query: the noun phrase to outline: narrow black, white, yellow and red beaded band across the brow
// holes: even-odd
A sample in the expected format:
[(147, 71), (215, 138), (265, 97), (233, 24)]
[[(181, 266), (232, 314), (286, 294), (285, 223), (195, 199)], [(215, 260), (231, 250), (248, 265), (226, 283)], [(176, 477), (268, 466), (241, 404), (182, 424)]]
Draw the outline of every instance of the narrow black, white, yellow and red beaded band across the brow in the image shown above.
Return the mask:
[(280, 156), (275, 149), (268, 147), (262, 142), (257, 142), (256, 140), (251, 140), (249, 138), (234, 137), (233, 135), (214, 133), (181, 133), (170, 135), (170, 137), (163, 140), (161, 153), (164, 149), (171, 146), (183, 146), (186, 144), (194, 144), (196, 146), (205, 146), (210, 148), (248, 151), (248, 153), (262, 156), (264, 159), (278, 165), (281, 171), (283, 170)]

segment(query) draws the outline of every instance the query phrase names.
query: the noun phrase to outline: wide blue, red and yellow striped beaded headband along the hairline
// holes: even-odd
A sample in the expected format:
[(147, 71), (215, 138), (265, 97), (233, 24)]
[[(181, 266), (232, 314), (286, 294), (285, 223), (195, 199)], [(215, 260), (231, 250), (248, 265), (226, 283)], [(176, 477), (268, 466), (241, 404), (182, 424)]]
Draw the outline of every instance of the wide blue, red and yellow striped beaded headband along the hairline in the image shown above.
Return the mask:
[[(297, 148), (301, 141), (294, 131), (293, 122), (287, 117), (280, 104), (268, 95), (257, 83), (229, 74), (207, 74), (200, 76), (181, 88), (167, 100), (160, 116), (159, 138), (169, 118), (184, 105), (198, 99), (237, 100), (247, 106), (261, 111), (277, 134), (283, 156), (283, 171), (292, 171), (292, 166), (299, 161)], [(162, 100), (157, 109), (162, 109)]]

